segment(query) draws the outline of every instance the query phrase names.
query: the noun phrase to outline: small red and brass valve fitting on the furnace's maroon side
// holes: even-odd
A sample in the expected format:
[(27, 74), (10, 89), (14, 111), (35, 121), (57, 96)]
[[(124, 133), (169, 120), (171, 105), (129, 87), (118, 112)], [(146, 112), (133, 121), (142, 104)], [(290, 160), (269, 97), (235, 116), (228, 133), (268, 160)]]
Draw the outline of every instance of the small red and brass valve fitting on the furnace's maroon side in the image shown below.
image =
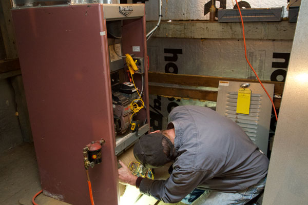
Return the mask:
[(89, 167), (93, 168), (94, 165), (98, 165), (102, 162), (102, 145), (105, 144), (105, 140), (92, 141), (83, 149), (84, 162), (86, 170)]

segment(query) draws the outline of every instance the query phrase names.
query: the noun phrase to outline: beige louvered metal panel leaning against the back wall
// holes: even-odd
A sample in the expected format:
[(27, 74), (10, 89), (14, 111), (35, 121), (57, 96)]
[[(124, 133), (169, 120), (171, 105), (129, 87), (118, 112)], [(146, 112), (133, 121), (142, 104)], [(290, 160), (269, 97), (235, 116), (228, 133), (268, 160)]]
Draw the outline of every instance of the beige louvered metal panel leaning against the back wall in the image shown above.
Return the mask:
[[(218, 87), (216, 111), (235, 121), (249, 138), (267, 154), (269, 124), (271, 122), (272, 103), (258, 83), (249, 83), (251, 89), (251, 105), (249, 114), (236, 112), (238, 90), (245, 82), (220, 81)], [(263, 84), (271, 97), (273, 84)]]

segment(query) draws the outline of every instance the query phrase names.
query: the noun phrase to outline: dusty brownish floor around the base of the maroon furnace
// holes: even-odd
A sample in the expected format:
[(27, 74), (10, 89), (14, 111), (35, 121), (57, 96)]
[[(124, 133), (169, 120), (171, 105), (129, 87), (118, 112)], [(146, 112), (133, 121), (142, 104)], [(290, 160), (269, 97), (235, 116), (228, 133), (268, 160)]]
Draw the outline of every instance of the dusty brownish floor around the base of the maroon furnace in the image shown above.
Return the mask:
[[(32, 197), (41, 190), (33, 144), (23, 143), (0, 154), (0, 181), (0, 204), (32, 205)], [(149, 205), (169, 204), (145, 195), (138, 201)], [(40, 205), (69, 205), (43, 194), (38, 195), (35, 202)]]

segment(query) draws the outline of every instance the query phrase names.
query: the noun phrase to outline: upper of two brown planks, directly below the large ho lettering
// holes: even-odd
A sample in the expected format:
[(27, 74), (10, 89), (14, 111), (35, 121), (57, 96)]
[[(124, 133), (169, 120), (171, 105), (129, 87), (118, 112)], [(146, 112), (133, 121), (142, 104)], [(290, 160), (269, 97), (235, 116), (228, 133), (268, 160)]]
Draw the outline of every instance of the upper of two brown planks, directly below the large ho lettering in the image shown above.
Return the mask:
[[(215, 77), (215, 76), (203, 76), (203, 75), (184, 75), (184, 74), (172, 74), (172, 73), (155, 73), (149, 72), (149, 82), (152, 83), (165, 83), (165, 84), (177, 84), (183, 86), (204, 86), (218, 88), (219, 80), (223, 81), (245, 81), (247, 83), (259, 83), (258, 80), (241, 79), (241, 78), (229, 78), (229, 77)], [(284, 83), (275, 82), (269, 80), (261, 80), (262, 83), (275, 84), (274, 93), (282, 95)]]

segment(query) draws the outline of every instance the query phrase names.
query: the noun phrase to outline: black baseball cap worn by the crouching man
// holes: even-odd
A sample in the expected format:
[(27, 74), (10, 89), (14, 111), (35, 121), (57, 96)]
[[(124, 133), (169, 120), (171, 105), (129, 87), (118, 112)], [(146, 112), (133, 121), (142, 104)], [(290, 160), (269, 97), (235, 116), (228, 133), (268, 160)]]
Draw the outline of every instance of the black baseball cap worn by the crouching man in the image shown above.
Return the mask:
[[(170, 146), (170, 156), (163, 151), (162, 141), (166, 139)], [(133, 147), (134, 157), (146, 168), (158, 168), (171, 161), (174, 145), (161, 133), (141, 136)]]

